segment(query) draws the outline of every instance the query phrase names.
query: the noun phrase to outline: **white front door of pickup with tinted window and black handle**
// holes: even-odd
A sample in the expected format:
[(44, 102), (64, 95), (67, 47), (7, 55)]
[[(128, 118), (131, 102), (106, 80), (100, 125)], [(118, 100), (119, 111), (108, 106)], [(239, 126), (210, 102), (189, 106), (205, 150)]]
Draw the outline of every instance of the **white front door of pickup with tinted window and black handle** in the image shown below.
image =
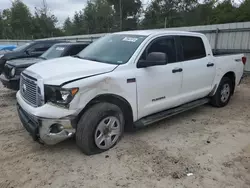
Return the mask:
[(181, 104), (182, 63), (178, 62), (175, 38), (154, 39), (145, 49), (140, 60), (151, 52), (167, 55), (167, 64), (137, 68), (138, 119)]

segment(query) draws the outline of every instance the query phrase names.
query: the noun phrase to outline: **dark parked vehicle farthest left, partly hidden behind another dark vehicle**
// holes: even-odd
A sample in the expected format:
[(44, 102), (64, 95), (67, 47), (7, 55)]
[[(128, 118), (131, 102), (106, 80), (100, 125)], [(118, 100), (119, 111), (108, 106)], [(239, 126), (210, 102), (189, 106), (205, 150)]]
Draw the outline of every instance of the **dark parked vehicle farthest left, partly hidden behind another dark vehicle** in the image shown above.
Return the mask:
[(32, 41), (30, 43), (26, 43), (22, 46), (15, 48), (11, 52), (5, 53), (3, 56), (0, 56), (0, 74), (3, 71), (6, 61), (18, 58), (38, 57), (42, 55), (46, 50), (48, 50), (52, 45), (60, 42), (63, 41), (58, 41), (58, 40)]

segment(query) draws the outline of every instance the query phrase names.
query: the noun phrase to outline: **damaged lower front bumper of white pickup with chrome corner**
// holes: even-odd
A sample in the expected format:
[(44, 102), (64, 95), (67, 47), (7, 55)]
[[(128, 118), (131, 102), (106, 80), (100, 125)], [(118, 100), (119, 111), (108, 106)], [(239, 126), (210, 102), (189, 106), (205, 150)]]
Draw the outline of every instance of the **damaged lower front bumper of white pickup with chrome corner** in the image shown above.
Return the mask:
[[(47, 119), (36, 117), (26, 112), (19, 103), (17, 103), (17, 111), (24, 128), (30, 133), (35, 141), (47, 145), (54, 145), (62, 142), (75, 134), (72, 127), (73, 118), (65, 119)], [(53, 130), (53, 126), (60, 125), (60, 130)]]

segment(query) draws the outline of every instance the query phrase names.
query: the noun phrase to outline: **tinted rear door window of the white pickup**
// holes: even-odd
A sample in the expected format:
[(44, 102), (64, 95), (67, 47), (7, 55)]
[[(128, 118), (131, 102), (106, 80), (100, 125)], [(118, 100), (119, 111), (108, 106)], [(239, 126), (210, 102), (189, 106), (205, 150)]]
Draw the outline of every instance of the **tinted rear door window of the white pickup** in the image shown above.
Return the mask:
[(180, 36), (180, 41), (184, 61), (206, 57), (204, 43), (200, 37)]

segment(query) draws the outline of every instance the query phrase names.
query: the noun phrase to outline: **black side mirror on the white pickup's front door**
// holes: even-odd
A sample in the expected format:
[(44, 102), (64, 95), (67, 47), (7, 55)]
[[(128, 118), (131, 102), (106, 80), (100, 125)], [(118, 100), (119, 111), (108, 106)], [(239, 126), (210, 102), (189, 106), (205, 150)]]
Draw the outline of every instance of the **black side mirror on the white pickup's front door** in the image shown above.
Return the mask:
[(168, 63), (167, 54), (162, 52), (151, 52), (146, 60), (140, 60), (137, 63), (137, 68), (146, 68), (157, 65), (166, 65)]

